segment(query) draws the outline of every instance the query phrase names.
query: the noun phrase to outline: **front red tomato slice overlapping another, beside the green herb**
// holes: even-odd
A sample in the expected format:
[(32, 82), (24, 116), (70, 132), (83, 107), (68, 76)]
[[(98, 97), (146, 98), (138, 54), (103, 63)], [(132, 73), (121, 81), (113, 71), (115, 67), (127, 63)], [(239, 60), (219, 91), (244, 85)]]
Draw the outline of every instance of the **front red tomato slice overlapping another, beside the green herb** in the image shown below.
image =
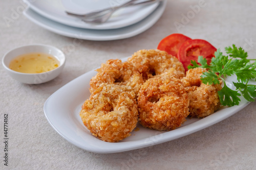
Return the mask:
[(197, 61), (198, 56), (203, 56), (207, 60), (207, 64), (211, 62), (211, 58), (215, 57), (214, 53), (217, 49), (209, 42), (202, 39), (193, 39), (184, 42), (178, 51), (178, 59), (182, 62), (185, 70), (190, 65), (191, 60)]

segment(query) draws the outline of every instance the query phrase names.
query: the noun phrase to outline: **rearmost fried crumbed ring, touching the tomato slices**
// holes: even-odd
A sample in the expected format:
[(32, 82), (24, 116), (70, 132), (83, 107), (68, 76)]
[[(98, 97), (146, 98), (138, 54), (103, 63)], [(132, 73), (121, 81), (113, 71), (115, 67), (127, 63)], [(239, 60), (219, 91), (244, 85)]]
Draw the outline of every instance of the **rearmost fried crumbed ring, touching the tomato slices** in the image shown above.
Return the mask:
[[(132, 63), (147, 80), (155, 76), (182, 78), (185, 76), (183, 64), (174, 56), (160, 50), (140, 50), (132, 55)], [(161, 75), (163, 74), (163, 75)]]

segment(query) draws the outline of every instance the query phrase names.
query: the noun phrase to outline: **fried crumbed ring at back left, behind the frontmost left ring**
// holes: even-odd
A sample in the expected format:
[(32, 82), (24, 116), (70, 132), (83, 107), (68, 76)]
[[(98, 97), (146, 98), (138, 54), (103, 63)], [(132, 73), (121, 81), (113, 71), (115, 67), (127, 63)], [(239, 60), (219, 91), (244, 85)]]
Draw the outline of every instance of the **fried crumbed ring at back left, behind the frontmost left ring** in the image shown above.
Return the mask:
[(121, 60), (108, 60), (101, 64), (96, 71), (97, 75), (90, 81), (90, 92), (92, 93), (102, 83), (118, 84), (132, 87), (135, 94), (139, 92), (143, 78), (135, 67), (129, 62)]

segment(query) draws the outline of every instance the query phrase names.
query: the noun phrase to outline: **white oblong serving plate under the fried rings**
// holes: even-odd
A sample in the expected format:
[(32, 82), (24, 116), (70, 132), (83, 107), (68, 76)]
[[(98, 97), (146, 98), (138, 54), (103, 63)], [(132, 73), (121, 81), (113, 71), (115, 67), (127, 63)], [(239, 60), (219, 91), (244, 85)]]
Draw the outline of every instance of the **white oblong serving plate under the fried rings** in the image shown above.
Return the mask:
[[(93, 136), (79, 116), (83, 102), (90, 96), (89, 83), (95, 75), (96, 71), (92, 70), (74, 79), (53, 93), (44, 105), (48, 122), (63, 138), (81, 149), (95, 153), (123, 152), (174, 140), (214, 125), (249, 104), (241, 98), (238, 106), (223, 107), (201, 119), (187, 118), (185, 124), (173, 131), (156, 131), (138, 125), (139, 130), (133, 131), (124, 140), (116, 143), (105, 142)], [(232, 85), (232, 82), (237, 82), (236, 77), (226, 79), (227, 84)]]

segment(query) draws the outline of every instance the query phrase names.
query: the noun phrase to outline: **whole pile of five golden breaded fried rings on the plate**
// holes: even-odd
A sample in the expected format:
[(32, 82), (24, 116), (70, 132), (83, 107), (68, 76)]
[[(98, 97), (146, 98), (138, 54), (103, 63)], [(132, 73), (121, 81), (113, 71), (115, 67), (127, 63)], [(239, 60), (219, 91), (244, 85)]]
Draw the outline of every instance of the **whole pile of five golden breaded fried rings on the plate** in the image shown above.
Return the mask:
[(103, 141), (118, 142), (139, 123), (155, 130), (174, 130), (189, 115), (205, 117), (220, 107), (220, 84), (202, 83), (204, 68), (189, 69), (159, 50), (140, 50), (126, 62), (108, 60), (90, 81), (90, 98), (80, 117)]

